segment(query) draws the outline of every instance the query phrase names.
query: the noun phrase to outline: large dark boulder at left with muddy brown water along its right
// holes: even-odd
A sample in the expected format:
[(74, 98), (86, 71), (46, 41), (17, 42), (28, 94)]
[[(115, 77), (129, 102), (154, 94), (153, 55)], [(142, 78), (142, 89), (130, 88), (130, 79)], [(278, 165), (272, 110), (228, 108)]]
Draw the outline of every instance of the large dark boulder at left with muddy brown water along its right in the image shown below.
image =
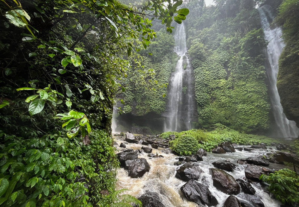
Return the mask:
[(144, 173), (148, 172), (150, 169), (150, 166), (146, 159), (144, 158), (138, 158), (133, 160), (127, 160), (126, 161), (127, 170), (129, 172), (129, 176), (132, 178), (138, 178), (142, 177)]

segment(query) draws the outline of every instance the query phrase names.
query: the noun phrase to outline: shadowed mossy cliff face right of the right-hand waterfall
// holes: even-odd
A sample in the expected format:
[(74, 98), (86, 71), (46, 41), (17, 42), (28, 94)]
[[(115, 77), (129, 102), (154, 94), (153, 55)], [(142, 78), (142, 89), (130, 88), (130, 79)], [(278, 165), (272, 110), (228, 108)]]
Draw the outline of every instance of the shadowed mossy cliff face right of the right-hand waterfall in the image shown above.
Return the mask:
[(286, 46), (280, 55), (277, 89), (289, 120), (299, 126), (299, 1), (284, 0), (279, 7), (277, 23), (283, 28)]

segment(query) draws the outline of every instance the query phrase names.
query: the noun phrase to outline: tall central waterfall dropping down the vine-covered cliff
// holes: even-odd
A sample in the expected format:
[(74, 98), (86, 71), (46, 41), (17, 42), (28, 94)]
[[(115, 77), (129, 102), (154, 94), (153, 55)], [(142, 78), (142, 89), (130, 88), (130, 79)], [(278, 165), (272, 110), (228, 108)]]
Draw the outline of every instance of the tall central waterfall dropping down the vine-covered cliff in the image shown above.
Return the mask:
[[(174, 38), (176, 44), (174, 51), (179, 55), (180, 59), (176, 64), (176, 71), (171, 75), (168, 86), (164, 131), (191, 129), (191, 121), (196, 108), (192, 71), (186, 55), (186, 33), (183, 23), (178, 25)], [(186, 78), (185, 82), (183, 80), (184, 77)], [(183, 87), (184, 84), (185, 87)]]

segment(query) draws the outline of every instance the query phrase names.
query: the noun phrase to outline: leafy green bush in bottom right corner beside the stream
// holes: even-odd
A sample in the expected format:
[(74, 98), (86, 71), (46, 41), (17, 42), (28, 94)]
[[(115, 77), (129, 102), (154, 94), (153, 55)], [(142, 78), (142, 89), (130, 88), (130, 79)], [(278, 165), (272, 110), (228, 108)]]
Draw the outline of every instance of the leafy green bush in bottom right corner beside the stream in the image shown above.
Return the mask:
[(260, 179), (269, 183), (268, 190), (283, 204), (298, 206), (299, 204), (299, 175), (287, 168), (261, 175)]

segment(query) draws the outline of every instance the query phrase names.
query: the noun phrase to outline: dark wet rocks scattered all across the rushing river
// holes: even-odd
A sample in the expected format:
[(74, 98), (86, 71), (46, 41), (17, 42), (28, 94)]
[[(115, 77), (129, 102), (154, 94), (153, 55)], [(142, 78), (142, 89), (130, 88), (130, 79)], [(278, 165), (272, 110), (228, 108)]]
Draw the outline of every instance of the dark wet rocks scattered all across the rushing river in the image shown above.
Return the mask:
[[(118, 159), (120, 161), (120, 166), (125, 168), (128, 171), (129, 176), (132, 178), (141, 177), (144, 173), (148, 172), (150, 169), (149, 164), (146, 159), (138, 158), (138, 152), (149, 153), (149, 157), (158, 157), (152, 153), (152, 148), (158, 147), (167, 147), (168, 141), (161, 141), (154, 136), (136, 136), (126, 133), (126, 138), (124, 141), (130, 143), (139, 143), (148, 146), (142, 146), (141, 149), (132, 150), (125, 149), (122, 152), (118, 153)], [(121, 143), (120, 147), (125, 148), (125, 142)], [(151, 147), (149, 147), (151, 145)], [(285, 146), (281, 146), (285, 147)], [(251, 150), (266, 150), (265, 145), (253, 145), (249, 148), (244, 147), (234, 147), (229, 142), (222, 142), (217, 147), (215, 147), (213, 153), (234, 153), (236, 152), (235, 148), (239, 151), (251, 151)], [(279, 147), (277, 147), (279, 148)], [(169, 148), (161, 150), (161, 152), (168, 154), (173, 153)], [(180, 190), (184, 197), (192, 202), (197, 203), (198, 205), (207, 205), (207, 206), (216, 206), (218, 201), (214, 197), (209, 188), (197, 181), (202, 179), (201, 175), (204, 171), (199, 167), (199, 163), (203, 161), (203, 156), (207, 156), (207, 152), (203, 149), (199, 149), (196, 155), (177, 157), (177, 162), (174, 165), (178, 165), (176, 170), (176, 178), (185, 181), (186, 183), (181, 186)], [(237, 168), (237, 164), (225, 160), (224, 162), (213, 162), (212, 165), (215, 168), (210, 168), (209, 173), (213, 179), (213, 186), (219, 191), (222, 191), (225, 194), (228, 194), (227, 199), (225, 200), (223, 207), (264, 207), (264, 203), (261, 201), (261, 198), (256, 194), (255, 189), (252, 187), (251, 182), (260, 182), (259, 177), (262, 174), (273, 173), (274, 169), (268, 168), (270, 165), (269, 162), (274, 163), (283, 163), (289, 162), (290, 159), (295, 158), (296, 156), (288, 152), (277, 152), (277, 153), (267, 153), (266, 156), (256, 156), (248, 157), (246, 159), (239, 159), (237, 164), (247, 165), (244, 169), (245, 177), (243, 179), (235, 179), (228, 172), (232, 172)], [(243, 194), (240, 194), (243, 192)], [(238, 195), (235, 197), (234, 195)], [(155, 192), (145, 192), (141, 197), (138, 198), (145, 207), (152, 206), (164, 206), (160, 200), (159, 194)]]

